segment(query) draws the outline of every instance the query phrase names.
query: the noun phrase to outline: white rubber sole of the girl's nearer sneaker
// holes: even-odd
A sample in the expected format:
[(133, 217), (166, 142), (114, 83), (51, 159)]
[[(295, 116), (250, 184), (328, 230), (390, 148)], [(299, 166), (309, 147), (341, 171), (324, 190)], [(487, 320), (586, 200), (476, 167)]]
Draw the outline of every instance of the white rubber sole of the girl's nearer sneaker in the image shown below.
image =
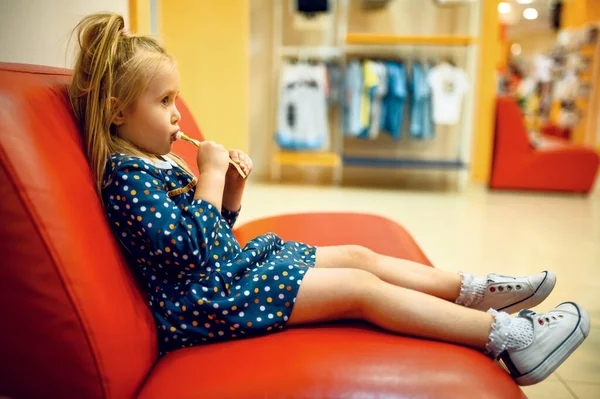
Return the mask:
[[(563, 343), (556, 348), (542, 363), (540, 363), (535, 369), (530, 372), (513, 378), (517, 382), (517, 384), (521, 386), (533, 385), (537, 384), (546, 378), (550, 374), (552, 374), (558, 366), (560, 366), (565, 359), (567, 359), (571, 353), (575, 351), (581, 345), (581, 343), (587, 338), (590, 333), (590, 317), (587, 311), (581, 307), (579, 307), (576, 303), (573, 302), (564, 302), (570, 303), (575, 306), (577, 312), (579, 313), (579, 321), (577, 322), (577, 326), (573, 329), (571, 334), (563, 341)], [(562, 305), (562, 303), (561, 303)], [(560, 305), (559, 305), (560, 306)], [(514, 374), (517, 368), (514, 366), (510, 357), (506, 354), (500, 356), (506, 367), (511, 370), (511, 374)], [(518, 374), (518, 373), (517, 373)]]

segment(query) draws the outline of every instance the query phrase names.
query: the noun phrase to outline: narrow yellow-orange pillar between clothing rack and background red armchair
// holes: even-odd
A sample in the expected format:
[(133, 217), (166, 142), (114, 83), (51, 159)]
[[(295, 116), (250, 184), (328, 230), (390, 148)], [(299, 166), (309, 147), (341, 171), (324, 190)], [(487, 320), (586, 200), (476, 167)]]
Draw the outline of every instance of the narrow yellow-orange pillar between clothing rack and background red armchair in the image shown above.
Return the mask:
[(487, 183), (490, 178), (494, 143), (496, 104), (496, 67), (501, 57), (499, 0), (482, 2), (481, 40), (479, 42), (478, 92), (475, 109), (475, 130), (471, 177)]

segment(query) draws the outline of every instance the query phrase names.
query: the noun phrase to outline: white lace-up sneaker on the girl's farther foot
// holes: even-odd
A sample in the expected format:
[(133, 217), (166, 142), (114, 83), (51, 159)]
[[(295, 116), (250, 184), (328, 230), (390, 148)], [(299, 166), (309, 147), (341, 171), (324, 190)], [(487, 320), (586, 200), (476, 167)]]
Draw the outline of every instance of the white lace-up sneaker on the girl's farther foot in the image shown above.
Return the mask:
[(508, 314), (515, 313), (542, 303), (555, 284), (556, 275), (551, 271), (527, 277), (489, 274), (483, 299), (471, 308), (483, 311), (492, 308)]

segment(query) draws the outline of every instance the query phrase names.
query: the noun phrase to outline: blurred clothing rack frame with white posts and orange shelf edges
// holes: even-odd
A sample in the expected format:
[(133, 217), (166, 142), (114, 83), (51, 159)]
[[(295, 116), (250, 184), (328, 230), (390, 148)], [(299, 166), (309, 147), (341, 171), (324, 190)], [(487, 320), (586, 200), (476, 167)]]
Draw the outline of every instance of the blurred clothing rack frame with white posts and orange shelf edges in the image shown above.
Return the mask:
[[(460, 118), (460, 143), (456, 154), (443, 159), (423, 159), (419, 157), (382, 157), (375, 154), (352, 154), (347, 151), (348, 141), (355, 140), (346, 137), (343, 132), (342, 118), (339, 120), (339, 129), (330, 129), (331, 149), (327, 152), (300, 152), (286, 151), (275, 148), (272, 156), (271, 177), (280, 179), (281, 167), (287, 166), (321, 166), (333, 169), (333, 183), (340, 184), (343, 178), (343, 168), (346, 167), (382, 167), (404, 169), (428, 169), (442, 171), (458, 171), (458, 185), (463, 188), (469, 179), (469, 166), (471, 163), (471, 143), (473, 140), (474, 123), (474, 96), (476, 92), (478, 36), (481, 19), (479, 2), (470, 3), (473, 9), (469, 12), (469, 32), (472, 35), (394, 35), (376, 33), (348, 33), (349, 0), (331, 2), (332, 17), (328, 30), (327, 44), (323, 46), (285, 46), (282, 43), (283, 33), (283, 5), (276, 1), (274, 6), (274, 31), (273, 31), (273, 71), (275, 99), (279, 95), (278, 79), (282, 61), (289, 59), (307, 60), (317, 59), (322, 61), (335, 60), (345, 68), (350, 59), (358, 57), (368, 58), (402, 58), (403, 54), (412, 53), (412, 59), (425, 57), (426, 59), (454, 59), (457, 51), (462, 51), (466, 58), (465, 72), (470, 78), (469, 92), (463, 99), (462, 116)], [(333, 32), (336, 31), (336, 37)], [(424, 59), (425, 59), (424, 58)], [(273, 112), (276, 106), (271, 107)], [(343, 112), (341, 112), (343, 114)], [(271, 120), (276, 120), (273, 115)], [(276, 147), (276, 145), (274, 144)]]

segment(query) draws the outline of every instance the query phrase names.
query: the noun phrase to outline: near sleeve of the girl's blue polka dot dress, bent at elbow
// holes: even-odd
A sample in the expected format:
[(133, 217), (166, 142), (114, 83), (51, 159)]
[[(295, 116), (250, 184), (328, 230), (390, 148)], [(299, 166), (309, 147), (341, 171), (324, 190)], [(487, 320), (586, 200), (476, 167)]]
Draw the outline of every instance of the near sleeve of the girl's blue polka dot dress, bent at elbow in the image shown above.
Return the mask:
[(204, 200), (174, 202), (167, 184), (143, 161), (121, 165), (103, 190), (108, 219), (130, 253), (149, 257), (138, 263), (152, 267), (160, 261), (184, 270), (203, 266), (217, 256), (212, 252), (222, 215)]

